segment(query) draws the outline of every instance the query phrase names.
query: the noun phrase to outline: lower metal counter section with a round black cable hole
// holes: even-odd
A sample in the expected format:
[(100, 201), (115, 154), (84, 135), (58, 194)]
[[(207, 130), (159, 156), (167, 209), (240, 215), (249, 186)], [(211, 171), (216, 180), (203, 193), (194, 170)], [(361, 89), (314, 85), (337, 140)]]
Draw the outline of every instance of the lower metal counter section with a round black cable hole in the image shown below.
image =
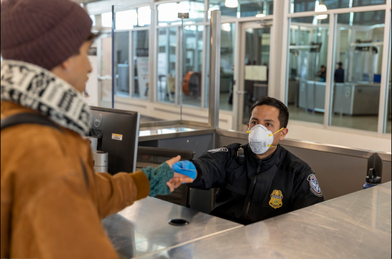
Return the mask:
[[(182, 218), (186, 226), (168, 221)], [(147, 197), (102, 220), (112, 244), (122, 258), (133, 258), (190, 242), (243, 225), (197, 212), (176, 204)]]

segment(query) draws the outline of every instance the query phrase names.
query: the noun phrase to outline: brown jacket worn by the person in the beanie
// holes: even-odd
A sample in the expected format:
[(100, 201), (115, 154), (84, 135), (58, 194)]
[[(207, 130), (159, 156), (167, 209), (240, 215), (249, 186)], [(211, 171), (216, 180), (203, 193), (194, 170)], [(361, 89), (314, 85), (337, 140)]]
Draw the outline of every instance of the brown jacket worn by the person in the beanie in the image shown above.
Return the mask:
[[(35, 112), (0, 108), (1, 118)], [(1, 258), (117, 258), (101, 219), (149, 193), (143, 172), (94, 173), (90, 141), (62, 129), (1, 131)]]

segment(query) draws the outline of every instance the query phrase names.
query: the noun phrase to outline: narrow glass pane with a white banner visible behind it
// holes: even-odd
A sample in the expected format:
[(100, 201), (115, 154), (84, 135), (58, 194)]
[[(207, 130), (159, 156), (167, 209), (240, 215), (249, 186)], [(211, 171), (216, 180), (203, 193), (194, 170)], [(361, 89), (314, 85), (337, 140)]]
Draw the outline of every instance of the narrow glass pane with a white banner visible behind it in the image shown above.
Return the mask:
[(133, 31), (133, 97), (148, 99), (148, 30)]

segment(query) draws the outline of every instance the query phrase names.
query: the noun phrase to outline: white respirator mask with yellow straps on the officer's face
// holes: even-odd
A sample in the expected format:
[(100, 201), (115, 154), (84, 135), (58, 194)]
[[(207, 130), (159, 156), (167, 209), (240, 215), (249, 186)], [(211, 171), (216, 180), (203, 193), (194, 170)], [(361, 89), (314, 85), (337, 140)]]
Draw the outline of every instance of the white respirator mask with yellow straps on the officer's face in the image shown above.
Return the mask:
[(276, 131), (275, 133), (272, 133), (266, 127), (260, 124), (254, 126), (251, 130), (248, 129), (248, 131), (246, 132), (249, 133), (248, 141), (250, 149), (253, 151), (253, 153), (258, 155), (267, 152), (270, 146), (272, 146), (271, 144), (273, 142), (273, 135), (278, 133), (282, 129), (283, 128)]

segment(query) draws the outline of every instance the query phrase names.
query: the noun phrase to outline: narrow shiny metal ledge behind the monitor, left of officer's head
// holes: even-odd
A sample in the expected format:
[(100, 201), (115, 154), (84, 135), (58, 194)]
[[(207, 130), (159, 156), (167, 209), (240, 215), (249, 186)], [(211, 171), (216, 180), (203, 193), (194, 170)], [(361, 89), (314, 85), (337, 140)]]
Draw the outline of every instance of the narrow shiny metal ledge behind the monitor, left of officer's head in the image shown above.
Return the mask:
[(215, 133), (215, 129), (186, 124), (149, 126), (139, 129), (139, 141), (171, 139), (213, 133)]

